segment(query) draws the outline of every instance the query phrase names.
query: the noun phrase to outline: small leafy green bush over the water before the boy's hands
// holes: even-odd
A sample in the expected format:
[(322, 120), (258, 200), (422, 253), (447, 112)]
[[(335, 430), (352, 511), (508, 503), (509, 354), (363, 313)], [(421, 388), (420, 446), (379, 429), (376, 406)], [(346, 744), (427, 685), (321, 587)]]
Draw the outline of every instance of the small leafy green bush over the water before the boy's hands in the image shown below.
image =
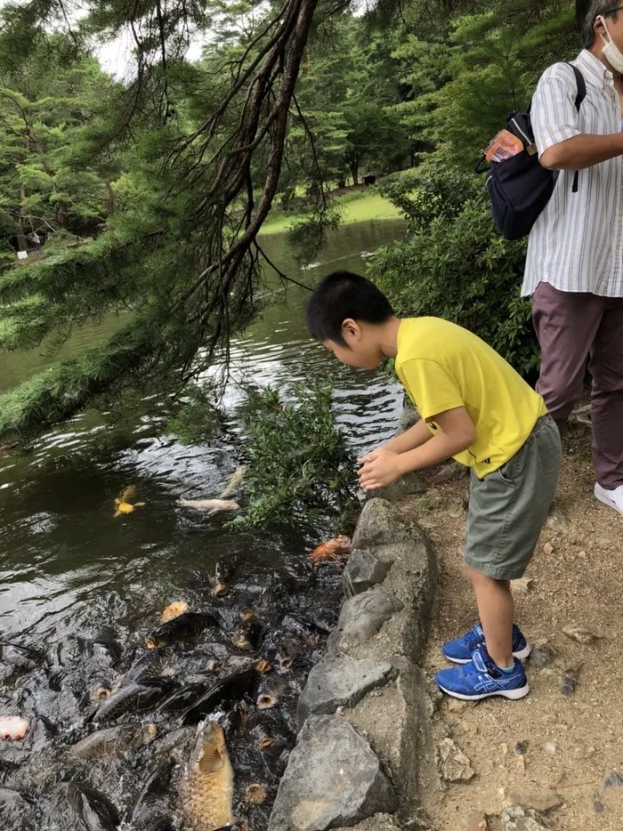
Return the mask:
[(259, 527), (336, 516), (354, 499), (355, 460), (336, 427), (328, 383), (297, 384), (293, 400), (277, 390), (247, 390), (239, 408), (250, 467), (249, 507), (235, 525)]

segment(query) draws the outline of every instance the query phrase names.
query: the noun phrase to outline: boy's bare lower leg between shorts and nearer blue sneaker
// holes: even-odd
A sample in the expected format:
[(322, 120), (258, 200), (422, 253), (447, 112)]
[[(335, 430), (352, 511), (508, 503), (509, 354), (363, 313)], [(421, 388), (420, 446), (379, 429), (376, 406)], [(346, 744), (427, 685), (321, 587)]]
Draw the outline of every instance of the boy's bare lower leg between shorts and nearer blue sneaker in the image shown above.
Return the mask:
[(514, 602), (509, 580), (496, 580), (465, 565), (476, 593), (478, 612), (490, 657), (502, 668), (514, 666)]

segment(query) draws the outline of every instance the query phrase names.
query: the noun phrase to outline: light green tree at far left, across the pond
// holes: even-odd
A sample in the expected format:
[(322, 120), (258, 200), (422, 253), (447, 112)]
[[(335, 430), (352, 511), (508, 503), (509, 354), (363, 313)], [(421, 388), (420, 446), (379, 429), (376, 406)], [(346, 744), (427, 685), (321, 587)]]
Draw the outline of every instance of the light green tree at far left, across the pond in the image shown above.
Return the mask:
[(28, 233), (88, 233), (114, 213), (110, 165), (85, 165), (85, 133), (113, 85), (61, 36), (20, 62), (0, 55), (0, 228), (25, 250)]

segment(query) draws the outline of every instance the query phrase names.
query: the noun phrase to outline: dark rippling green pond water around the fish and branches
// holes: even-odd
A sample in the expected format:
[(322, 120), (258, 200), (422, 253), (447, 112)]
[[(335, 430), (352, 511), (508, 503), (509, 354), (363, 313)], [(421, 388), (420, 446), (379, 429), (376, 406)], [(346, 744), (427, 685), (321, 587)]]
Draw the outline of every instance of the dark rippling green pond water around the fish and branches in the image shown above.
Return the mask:
[[(263, 245), (281, 270), (312, 285), (331, 270), (362, 273), (361, 253), (374, 251), (403, 231), (400, 221), (345, 226), (320, 254), (320, 264), (308, 270), (296, 264), (284, 236), (266, 236)], [(307, 293), (302, 288), (284, 289), (274, 279), (269, 291), (273, 296), (262, 319), (232, 344), (233, 375), (282, 387), (330, 370), (336, 413), (352, 447), (365, 450), (387, 439), (401, 410), (398, 385), (383, 374), (357, 373), (337, 365), (327, 351), (309, 340), (303, 322)], [(104, 342), (119, 325), (113, 318), (79, 331), (53, 356), (44, 349), (3, 356), (0, 391), (43, 370), (51, 359)], [(225, 404), (233, 403), (236, 395), (231, 388)], [(37, 728), (43, 733), (32, 738), (42, 742), (42, 747), (45, 730), (53, 735), (61, 730), (61, 744), (85, 735), (85, 713), (90, 706), (85, 702), (92, 692), (84, 688), (85, 679), (93, 685), (105, 681), (107, 672), (108, 678), (114, 674), (112, 658), (108, 669), (104, 661), (96, 671), (93, 643), (114, 641), (125, 651), (128, 644), (134, 644), (135, 650), (135, 644), (158, 621), (158, 611), (170, 602), (184, 600), (201, 608), (209, 597), (213, 603), (210, 577), (217, 562), (235, 564), (232, 585), (239, 586), (232, 588), (229, 600), (219, 601), (225, 617), (232, 604), (256, 605), (259, 593), (264, 596), (282, 586), (287, 586), (291, 597), (297, 589), (302, 591), (310, 613), (310, 604), (316, 608), (329, 601), (336, 605), (335, 575), (315, 580), (312, 588), (305, 582), (306, 553), (319, 542), (313, 528), (253, 534), (233, 531), (224, 528), (219, 516), (190, 513), (177, 504), (180, 496), (217, 496), (236, 467), (237, 448), (233, 444), (188, 448), (174, 437), (163, 436), (157, 405), (150, 402), (151, 415), (125, 419), (85, 413), (44, 436), (28, 456), (0, 455), (0, 641), (36, 649), (45, 662), (47, 680), (51, 672), (57, 674), (57, 681), (61, 679), (55, 686), (47, 684), (39, 695), (39, 682), (25, 689), (23, 679), (12, 674), (15, 666), (4, 667), (0, 715), (25, 709), (27, 716), (42, 718), (44, 726), (39, 723)], [(145, 504), (128, 516), (115, 518), (114, 497), (129, 484)], [(327, 609), (328, 617), (335, 611)], [(313, 648), (313, 634), (306, 638)], [(273, 652), (279, 655), (277, 647)], [(185, 666), (180, 672), (192, 674), (191, 669)], [(80, 678), (81, 690), (77, 689)], [(295, 691), (296, 685), (293, 696)], [(3, 764), (17, 764), (7, 755), (6, 746), (0, 741), (0, 811), (4, 811)], [(23, 791), (19, 770), (11, 771), (17, 779), (13, 782), (6, 773), (4, 787)], [(57, 784), (58, 779), (54, 775)], [(106, 781), (103, 773), (91, 776), (91, 784), (105, 792)], [(32, 787), (43, 787), (40, 776), (37, 782)], [(138, 786), (128, 787), (132, 791)], [(108, 787), (108, 792), (123, 802), (118, 787), (112, 791)], [(62, 825), (65, 831), (74, 827), (77, 812), (66, 815), (63, 811), (62, 820), (45, 820), (44, 827)], [(45, 813), (56, 816), (49, 806)], [(252, 823), (252, 831), (259, 831), (263, 821)], [(32, 822), (33, 827), (41, 827), (41, 815)], [(15, 823), (20, 831), (28, 827), (21, 813)], [(78, 822), (75, 827), (85, 825)]]

